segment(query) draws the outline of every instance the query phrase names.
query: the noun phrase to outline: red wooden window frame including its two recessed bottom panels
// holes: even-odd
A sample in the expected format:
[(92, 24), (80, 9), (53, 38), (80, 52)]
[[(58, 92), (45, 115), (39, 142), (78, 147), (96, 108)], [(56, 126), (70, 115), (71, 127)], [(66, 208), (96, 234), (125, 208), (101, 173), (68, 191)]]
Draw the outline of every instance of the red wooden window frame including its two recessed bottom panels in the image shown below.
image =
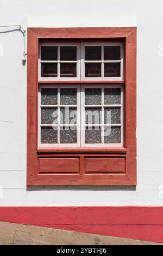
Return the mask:
[[(123, 39), (124, 81), (92, 81), (92, 84), (124, 84), (123, 148), (37, 147), (38, 51), (40, 39)], [(70, 81), (60, 81), (60, 83)], [(43, 81), (50, 84), (58, 81)], [(91, 83), (74, 81), (73, 83)], [(27, 186), (136, 185), (136, 27), (28, 28), (27, 83)], [(73, 163), (68, 171), (67, 164)], [(102, 169), (99, 168), (102, 166)], [(71, 168), (70, 168), (71, 169)]]

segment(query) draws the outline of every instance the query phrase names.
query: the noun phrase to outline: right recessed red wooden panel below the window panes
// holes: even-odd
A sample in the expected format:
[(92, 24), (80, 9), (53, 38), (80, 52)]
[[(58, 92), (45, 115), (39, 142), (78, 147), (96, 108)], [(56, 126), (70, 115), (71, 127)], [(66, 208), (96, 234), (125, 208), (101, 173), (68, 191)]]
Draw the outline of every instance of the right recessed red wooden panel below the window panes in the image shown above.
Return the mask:
[(86, 157), (85, 172), (125, 172), (125, 158)]

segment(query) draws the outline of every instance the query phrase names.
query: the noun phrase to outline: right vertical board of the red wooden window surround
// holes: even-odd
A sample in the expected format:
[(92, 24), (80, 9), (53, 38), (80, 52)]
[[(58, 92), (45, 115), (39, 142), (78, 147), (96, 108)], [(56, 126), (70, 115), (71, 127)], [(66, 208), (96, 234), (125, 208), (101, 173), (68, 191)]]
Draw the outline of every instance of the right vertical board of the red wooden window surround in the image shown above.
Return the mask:
[(136, 183), (136, 29), (126, 38), (125, 65), (125, 144), (126, 173)]

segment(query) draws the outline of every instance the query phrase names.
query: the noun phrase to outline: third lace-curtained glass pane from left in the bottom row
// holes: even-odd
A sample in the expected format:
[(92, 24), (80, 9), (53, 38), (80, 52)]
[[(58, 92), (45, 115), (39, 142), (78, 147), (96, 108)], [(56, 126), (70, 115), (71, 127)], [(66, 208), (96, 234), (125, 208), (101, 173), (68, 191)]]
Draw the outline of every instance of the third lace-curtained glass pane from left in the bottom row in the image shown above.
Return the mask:
[(101, 143), (101, 128), (100, 127), (86, 127), (85, 143), (86, 144)]

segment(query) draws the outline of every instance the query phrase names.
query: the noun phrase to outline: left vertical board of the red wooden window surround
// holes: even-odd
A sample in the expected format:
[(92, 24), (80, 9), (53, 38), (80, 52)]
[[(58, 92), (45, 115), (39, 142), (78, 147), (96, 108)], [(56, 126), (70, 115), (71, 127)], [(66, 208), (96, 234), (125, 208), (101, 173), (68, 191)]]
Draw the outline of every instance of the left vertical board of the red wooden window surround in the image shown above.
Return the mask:
[(38, 38), (28, 29), (27, 62), (27, 184), (37, 177), (37, 63)]

